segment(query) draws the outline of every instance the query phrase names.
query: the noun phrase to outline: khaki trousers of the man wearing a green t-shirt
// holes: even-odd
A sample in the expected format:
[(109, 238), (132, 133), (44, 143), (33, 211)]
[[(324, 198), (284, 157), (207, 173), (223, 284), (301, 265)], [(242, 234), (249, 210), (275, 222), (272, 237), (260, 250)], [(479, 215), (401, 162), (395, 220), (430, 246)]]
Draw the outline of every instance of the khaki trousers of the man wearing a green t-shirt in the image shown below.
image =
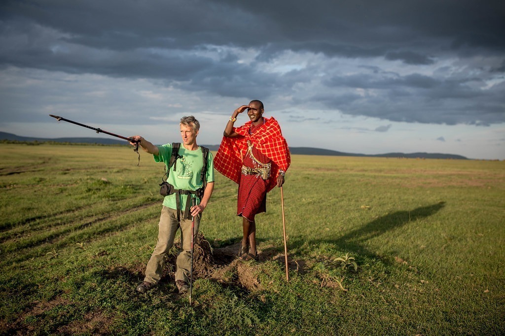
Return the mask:
[[(177, 221), (177, 210), (163, 206), (158, 224), (158, 243), (145, 268), (144, 281), (157, 284), (163, 274), (163, 266), (167, 259), (168, 252), (174, 245), (174, 238), (177, 230), (181, 228), (181, 246), (176, 262), (175, 280), (182, 280), (189, 283), (189, 271), (191, 268), (191, 219)], [(191, 217), (191, 215), (188, 215)], [(194, 239), (200, 226), (200, 217), (194, 218)]]

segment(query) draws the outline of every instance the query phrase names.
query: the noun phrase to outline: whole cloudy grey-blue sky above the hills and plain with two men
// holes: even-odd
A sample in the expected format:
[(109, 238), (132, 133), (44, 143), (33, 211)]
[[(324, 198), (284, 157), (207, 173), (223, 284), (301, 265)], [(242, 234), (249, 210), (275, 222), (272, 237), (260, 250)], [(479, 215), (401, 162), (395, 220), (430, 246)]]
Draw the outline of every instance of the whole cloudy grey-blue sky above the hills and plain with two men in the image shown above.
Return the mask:
[(505, 2), (0, 4), (0, 131), (162, 144), (192, 114), (215, 145), (251, 99), (291, 147), (503, 160)]

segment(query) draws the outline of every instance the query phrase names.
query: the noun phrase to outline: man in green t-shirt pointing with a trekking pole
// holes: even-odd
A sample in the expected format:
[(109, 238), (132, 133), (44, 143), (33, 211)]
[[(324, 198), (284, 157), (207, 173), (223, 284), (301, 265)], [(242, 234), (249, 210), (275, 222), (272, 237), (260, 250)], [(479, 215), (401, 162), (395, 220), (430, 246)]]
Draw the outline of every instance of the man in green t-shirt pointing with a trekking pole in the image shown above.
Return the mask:
[[(203, 151), (196, 144), (196, 136), (200, 124), (193, 116), (182, 117), (180, 130), (182, 143), (179, 146), (177, 160), (174, 162), (167, 182), (173, 186), (175, 192), (165, 196), (160, 223), (158, 225), (158, 243), (153, 255), (145, 268), (144, 281), (137, 286), (137, 291), (145, 293), (161, 279), (165, 256), (173, 246), (177, 230), (181, 229), (182, 251), (177, 256), (175, 283), (179, 293), (188, 290), (188, 276), (191, 267), (191, 225), (194, 217), (193, 237), (196, 239), (200, 225), (201, 213), (204, 212), (214, 189), (214, 163), (212, 154), (209, 152), (207, 159), (207, 185), (203, 196), (198, 189), (204, 187), (201, 171), (204, 168)], [(172, 156), (172, 144), (155, 146), (140, 136), (131, 137), (132, 145), (138, 142), (140, 147), (147, 153), (153, 154), (156, 162), (164, 162), (169, 167)], [(175, 170), (174, 170), (175, 167)], [(201, 191), (201, 190), (200, 190)], [(201, 197), (199, 197), (201, 196)], [(177, 199), (178, 198), (178, 199)], [(195, 198), (195, 206), (186, 203)], [(189, 209), (189, 211), (185, 211)]]

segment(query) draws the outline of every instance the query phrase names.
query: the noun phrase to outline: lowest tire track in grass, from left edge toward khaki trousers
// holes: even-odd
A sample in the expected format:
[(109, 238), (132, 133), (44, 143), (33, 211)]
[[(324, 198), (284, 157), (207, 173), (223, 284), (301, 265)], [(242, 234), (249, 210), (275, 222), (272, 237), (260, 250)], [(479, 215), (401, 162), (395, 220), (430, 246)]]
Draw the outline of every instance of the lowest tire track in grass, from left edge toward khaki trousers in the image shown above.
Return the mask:
[[(52, 250), (58, 250), (65, 246), (73, 245), (76, 242), (82, 242), (83, 240), (89, 241), (113, 230), (125, 229), (136, 225), (140, 221), (152, 219), (159, 209), (152, 211), (152, 213), (149, 211), (141, 212), (141, 210), (148, 208), (154, 209), (159, 206), (159, 201), (143, 204), (132, 207), (126, 211), (120, 210), (115, 211), (113, 214), (96, 216), (91, 220), (65, 227), (56, 232), (51, 232), (49, 235), (39, 236), (36, 239), (3, 244), (2, 252), (4, 258), (1, 263), (25, 261), (51, 252)], [(125, 217), (127, 220), (124, 220)], [(102, 227), (100, 227), (100, 225), (102, 225)], [(12, 255), (15, 255), (14, 259), (11, 258)]]

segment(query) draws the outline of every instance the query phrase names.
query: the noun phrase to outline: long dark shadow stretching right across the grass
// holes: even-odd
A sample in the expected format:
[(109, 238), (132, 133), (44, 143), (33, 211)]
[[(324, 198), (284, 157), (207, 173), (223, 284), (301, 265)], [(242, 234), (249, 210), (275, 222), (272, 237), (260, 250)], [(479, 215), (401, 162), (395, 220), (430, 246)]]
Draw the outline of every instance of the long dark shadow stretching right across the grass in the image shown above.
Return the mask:
[[(338, 239), (311, 241), (310, 244), (319, 244), (321, 242), (326, 242), (334, 244), (339, 248), (358, 252), (364, 257), (372, 259), (380, 258), (380, 256), (378, 256), (376, 253), (368, 250), (364, 246), (366, 241), (385, 234), (386, 232), (393, 229), (397, 229), (417, 220), (430, 217), (436, 214), (443, 207), (445, 207), (444, 201), (431, 206), (416, 208), (410, 211), (397, 211), (392, 214), (379, 217), (359, 229), (350, 231)], [(304, 243), (307, 242), (299, 241), (298, 244), (300, 245), (293, 247), (301, 247), (301, 244)]]

